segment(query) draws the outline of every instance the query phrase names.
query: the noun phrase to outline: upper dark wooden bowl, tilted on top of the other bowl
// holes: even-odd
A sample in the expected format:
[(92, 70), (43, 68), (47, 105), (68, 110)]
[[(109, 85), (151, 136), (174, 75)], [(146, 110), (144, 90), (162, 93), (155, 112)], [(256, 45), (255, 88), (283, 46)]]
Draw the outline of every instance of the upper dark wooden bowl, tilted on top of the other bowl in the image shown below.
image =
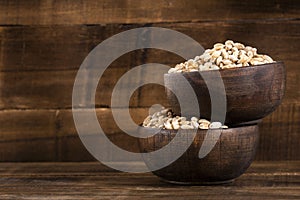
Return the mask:
[[(209, 77), (207, 82), (212, 86), (212, 90), (217, 91), (218, 95), (226, 95), (225, 124), (228, 125), (260, 120), (269, 115), (281, 103), (285, 91), (286, 75), (282, 62), (201, 73)], [(226, 94), (219, 92), (222, 90), (216, 84), (218, 74), (223, 79)], [(186, 72), (182, 75), (197, 95), (201, 118), (211, 119), (211, 98), (202, 76), (199, 72)], [(165, 74), (165, 85), (188, 99), (188, 94), (185, 94), (187, 90), (184, 84), (178, 81), (178, 76), (180, 76), (178, 73)], [(168, 89), (166, 93), (171, 109), (180, 115), (180, 106), (176, 96)], [(187, 117), (190, 117), (189, 113), (194, 111), (192, 106), (190, 109), (185, 112)]]

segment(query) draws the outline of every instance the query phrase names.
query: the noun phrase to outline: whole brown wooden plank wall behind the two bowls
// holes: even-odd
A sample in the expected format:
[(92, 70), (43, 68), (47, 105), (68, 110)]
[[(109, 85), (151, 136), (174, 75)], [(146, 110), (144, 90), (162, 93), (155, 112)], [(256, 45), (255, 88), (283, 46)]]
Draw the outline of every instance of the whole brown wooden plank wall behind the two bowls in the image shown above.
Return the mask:
[[(0, 0), (0, 160), (93, 160), (72, 119), (76, 72), (97, 44), (136, 27), (180, 31), (205, 48), (233, 39), (282, 60), (287, 90), (282, 105), (260, 125), (258, 160), (300, 159), (300, 2), (297, 0)], [(134, 138), (111, 123), (110, 95), (128, 69), (182, 59), (138, 50), (117, 59), (102, 77), (97, 114), (110, 139), (137, 151)], [(105, 88), (103, 90), (102, 88)], [(164, 89), (140, 88), (130, 106), (141, 122), (154, 103), (167, 105)]]

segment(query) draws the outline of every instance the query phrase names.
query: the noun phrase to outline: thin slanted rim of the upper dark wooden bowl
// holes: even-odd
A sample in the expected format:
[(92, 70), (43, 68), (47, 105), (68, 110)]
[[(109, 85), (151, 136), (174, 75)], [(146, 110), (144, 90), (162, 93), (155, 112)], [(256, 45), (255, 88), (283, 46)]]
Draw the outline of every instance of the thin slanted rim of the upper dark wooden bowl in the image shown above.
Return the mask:
[(283, 61), (275, 61), (272, 63), (264, 63), (264, 64), (260, 64), (260, 65), (250, 65), (250, 66), (246, 66), (246, 67), (232, 67), (232, 68), (227, 68), (227, 69), (214, 69), (214, 70), (205, 70), (205, 71), (194, 71), (194, 72), (175, 72), (175, 73), (165, 73), (164, 76), (173, 76), (173, 75), (178, 75), (178, 74), (182, 74), (182, 75), (188, 75), (188, 74), (201, 74), (201, 73), (213, 73), (213, 72), (217, 72), (219, 71), (220, 73), (222, 72), (229, 72), (229, 71), (237, 71), (237, 70), (246, 70), (246, 69), (254, 69), (257, 67), (268, 67), (271, 65), (280, 65), (284, 67), (284, 62)]

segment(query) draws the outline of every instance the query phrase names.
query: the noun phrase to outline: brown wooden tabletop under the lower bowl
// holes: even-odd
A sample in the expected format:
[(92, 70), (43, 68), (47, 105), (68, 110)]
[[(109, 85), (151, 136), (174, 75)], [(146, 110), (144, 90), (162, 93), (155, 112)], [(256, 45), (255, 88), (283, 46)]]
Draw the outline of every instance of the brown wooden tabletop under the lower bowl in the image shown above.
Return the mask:
[[(139, 167), (139, 163), (136, 163)], [(0, 199), (300, 199), (300, 161), (254, 162), (233, 183), (180, 186), (100, 163), (1, 163)]]

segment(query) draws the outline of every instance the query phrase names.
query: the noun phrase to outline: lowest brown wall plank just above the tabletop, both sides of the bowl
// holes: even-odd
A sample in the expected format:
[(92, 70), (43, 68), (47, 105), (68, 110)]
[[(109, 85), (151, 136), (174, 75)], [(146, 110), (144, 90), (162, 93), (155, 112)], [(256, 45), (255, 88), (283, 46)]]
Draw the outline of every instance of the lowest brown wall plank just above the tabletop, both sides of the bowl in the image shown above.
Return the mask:
[[(263, 120), (256, 160), (300, 160), (299, 109), (299, 104), (281, 105)], [(111, 109), (98, 108), (96, 113), (99, 124), (114, 144), (138, 152), (137, 139), (120, 130)], [(131, 108), (130, 114), (140, 124), (148, 108)], [(69, 109), (0, 111), (0, 122), (2, 161), (94, 160), (78, 137)], [(38, 145), (39, 150), (32, 148), (45, 143), (48, 146)]]

